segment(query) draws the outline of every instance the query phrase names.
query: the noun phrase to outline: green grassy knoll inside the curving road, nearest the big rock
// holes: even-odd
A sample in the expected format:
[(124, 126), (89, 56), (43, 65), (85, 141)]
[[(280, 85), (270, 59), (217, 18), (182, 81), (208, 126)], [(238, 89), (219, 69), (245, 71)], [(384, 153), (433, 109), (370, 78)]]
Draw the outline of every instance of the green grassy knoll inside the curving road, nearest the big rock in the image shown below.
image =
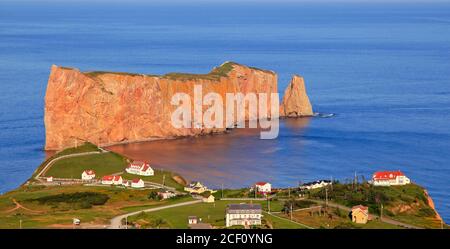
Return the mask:
[(45, 173), (56, 178), (81, 178), (81, 173), (93, 169), (96, 177), (121, 172), (127, 165), (126, 158), (113, 152), (70, 157), (56, 161)]

